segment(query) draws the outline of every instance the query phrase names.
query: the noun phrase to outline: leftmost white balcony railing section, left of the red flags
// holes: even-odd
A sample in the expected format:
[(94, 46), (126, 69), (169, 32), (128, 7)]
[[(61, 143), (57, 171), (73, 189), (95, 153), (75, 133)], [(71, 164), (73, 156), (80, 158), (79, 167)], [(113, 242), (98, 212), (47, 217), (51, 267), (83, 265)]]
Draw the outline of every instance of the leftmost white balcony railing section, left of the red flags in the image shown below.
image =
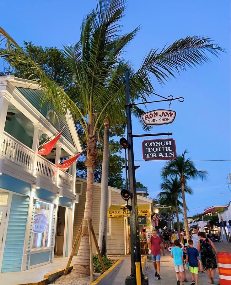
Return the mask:
[(32, 149), (19, 142), (7, 132), (3, 132), (0, 144), (1, 156), (24, 168), (32, 170), (32, 160), (34, 157), (34, 151)]

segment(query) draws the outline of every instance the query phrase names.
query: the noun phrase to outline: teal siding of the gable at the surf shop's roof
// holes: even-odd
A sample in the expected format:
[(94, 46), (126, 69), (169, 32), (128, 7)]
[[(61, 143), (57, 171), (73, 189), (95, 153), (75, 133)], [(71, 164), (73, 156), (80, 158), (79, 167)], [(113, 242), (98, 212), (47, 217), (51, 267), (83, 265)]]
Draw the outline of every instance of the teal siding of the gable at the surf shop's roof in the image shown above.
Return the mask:
[[(23, 87), (16, 87), (22, 95), (38, 110), (40, 113), (46, 118), (46, 114), (49, 110), (53, 110), (54, 106), (48, 104), (45, 102), (44, 105), (41, 107), (41, 96), (43, 91), (42, 90), (36, 90), (36, 89), (29, 89), (29, 88), (23, 88)], [(55, 126), (54, 126), (55, 127)], [(62, 135), (68, 140), (69, 143), (71, 143), (74, 146), (74, 142), (69, 130), (69, 127), (67, 125), (67, 122), (64, 118), (60, 119), (60, 127), (65, 127), (62, 131)]]

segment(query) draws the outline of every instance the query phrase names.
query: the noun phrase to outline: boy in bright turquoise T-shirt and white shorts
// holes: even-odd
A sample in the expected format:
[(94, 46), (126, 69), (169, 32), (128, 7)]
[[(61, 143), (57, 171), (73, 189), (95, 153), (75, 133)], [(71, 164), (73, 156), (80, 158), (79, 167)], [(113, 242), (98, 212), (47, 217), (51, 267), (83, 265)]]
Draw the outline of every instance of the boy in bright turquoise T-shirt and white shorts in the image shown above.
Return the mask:
[[(180, 248), (180, 241), (174, 241), (175, 247), (171, 249), (171, 257), (174, 260), (177, 285), (183, 285), (184, 257), (183, 250)], [(179, 280), (180, 279), (180, 280)]]

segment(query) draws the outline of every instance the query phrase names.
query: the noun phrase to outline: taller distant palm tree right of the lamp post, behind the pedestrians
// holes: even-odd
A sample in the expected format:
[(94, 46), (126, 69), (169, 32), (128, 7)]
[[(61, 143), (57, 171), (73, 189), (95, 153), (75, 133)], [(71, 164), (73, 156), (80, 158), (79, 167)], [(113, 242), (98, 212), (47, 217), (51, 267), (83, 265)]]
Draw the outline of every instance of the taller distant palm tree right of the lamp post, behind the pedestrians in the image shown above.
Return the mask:
[(189, 227), (187, 218), (187, 208), (185, 201), (185, 184), (190, 179), (201, 178), (202, 180), (207, 178), (207, 172), (204, 170), (197, 170), (194, 162), (190, 158), (185, 158), (185, 150), (183, 154), (177, 156), (174, 160), (169, 160), (161, 171), (161, 176), (164, 179), (167, 177), (177, 177), (180, 179), (180, 186), (182, 192), (183, 200), (183, 212), (184, 212), (184, 226), (187, 236), (187, 241), (189, 240)]

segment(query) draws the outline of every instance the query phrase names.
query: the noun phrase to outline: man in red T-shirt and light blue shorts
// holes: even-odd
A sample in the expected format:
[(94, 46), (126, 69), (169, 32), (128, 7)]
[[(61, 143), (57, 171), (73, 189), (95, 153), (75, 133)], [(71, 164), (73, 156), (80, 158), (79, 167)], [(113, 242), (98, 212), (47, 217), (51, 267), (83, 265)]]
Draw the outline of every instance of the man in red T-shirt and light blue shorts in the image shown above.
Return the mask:
[(151, 244), (151, 254), (153, 256), (153, 265), (155, 268), (155, 276), (157, 277), (158, 280), (160, 280), (160, 249), (163, 251), (163, 256), (165, 255), (164, 253), (164, 247), (161, 241), (161, 238), (157, 236), (157, 231), (153, 230), (152, 235), (148, 239), (148, 244)]

